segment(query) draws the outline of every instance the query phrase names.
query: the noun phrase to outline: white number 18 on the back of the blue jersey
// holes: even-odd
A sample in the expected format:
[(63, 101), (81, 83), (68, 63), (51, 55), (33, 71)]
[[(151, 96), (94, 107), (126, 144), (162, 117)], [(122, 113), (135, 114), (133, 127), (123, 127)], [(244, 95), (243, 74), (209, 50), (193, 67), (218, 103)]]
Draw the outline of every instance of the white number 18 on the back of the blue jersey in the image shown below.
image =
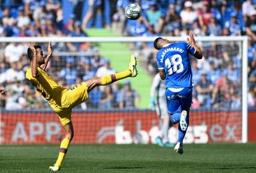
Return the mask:
[(184, 70), (182, 58), (179, 54), (175, 54), (171, 58), (166, 58), (166, 60), (164, 61), (164, 65), (168, 68), (169, 74), (181, 73)]

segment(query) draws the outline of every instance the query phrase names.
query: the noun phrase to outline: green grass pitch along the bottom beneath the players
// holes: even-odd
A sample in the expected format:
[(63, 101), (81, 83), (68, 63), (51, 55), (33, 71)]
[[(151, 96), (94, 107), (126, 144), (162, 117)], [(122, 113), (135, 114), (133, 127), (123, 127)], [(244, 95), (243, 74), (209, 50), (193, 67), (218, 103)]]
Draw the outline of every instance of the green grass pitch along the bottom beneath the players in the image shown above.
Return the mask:
[[(0, 145), (0, 172), (49, 172), (59, 145)], [(255, 143), (70, 145), (59, 172), (256, 172)]]

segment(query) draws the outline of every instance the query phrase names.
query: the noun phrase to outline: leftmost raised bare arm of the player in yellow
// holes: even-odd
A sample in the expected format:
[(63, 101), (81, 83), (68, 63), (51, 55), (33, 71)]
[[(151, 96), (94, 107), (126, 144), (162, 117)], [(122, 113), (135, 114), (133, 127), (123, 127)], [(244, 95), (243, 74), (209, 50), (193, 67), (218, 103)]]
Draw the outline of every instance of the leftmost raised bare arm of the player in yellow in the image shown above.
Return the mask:
[(31, 61), (30, 68), (31, 68), (31, 71), (32, 71), (32, 76), (34, 78), (36, 78), (36, 77), (38, 77), (36, 49), (33, 46), (32, 42), (27, 42), (27, 46), (29, 47), (28, 57), (30, 58), (30, 61)]

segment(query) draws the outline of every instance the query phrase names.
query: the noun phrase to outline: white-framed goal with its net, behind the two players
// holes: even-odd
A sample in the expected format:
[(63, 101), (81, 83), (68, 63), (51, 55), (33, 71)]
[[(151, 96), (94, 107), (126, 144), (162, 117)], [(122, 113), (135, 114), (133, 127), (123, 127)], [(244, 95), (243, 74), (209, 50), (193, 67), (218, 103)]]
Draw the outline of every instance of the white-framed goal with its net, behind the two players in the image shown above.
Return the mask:
[[(25, 41), (53, 55), (46, 71), (72, 88), (93, 76), (127, 69), (130, 54), (139, 75), (96, 87), (87, 102), (73, 109), (74, 143), (154, 143), (160, 119), (150, 107), (150, 88), (158, 69), (155, 38), (1, 38), (0, 143), (58, 143), (64, 133), (59, 118), (25, 79), (30, 68)], [(186, 38), (167, 38), (172, 42)], [(247, 38), (196, 38), (203, 59), (190, 57), (194, 92), (185, 143), (247, 142)], [(177, 126), (169, 129), (177, 142)]]

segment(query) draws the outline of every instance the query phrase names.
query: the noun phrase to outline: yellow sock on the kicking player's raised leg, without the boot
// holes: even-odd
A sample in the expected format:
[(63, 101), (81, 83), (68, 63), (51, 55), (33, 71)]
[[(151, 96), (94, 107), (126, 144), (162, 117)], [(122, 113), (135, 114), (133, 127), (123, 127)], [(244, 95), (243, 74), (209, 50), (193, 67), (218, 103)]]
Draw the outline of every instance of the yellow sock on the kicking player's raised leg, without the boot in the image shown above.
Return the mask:
[(115, 73), (115, 74), (108, 74), (106, 76), (103, 76), (101, 78), (101, 86), (105, 86), (108, 84), (111, 84), (115, 81), (118, 81), (120, 79), (127, 78), (132, 75), (132, 72), (130, 70), (122, 71), (121, 73)]

